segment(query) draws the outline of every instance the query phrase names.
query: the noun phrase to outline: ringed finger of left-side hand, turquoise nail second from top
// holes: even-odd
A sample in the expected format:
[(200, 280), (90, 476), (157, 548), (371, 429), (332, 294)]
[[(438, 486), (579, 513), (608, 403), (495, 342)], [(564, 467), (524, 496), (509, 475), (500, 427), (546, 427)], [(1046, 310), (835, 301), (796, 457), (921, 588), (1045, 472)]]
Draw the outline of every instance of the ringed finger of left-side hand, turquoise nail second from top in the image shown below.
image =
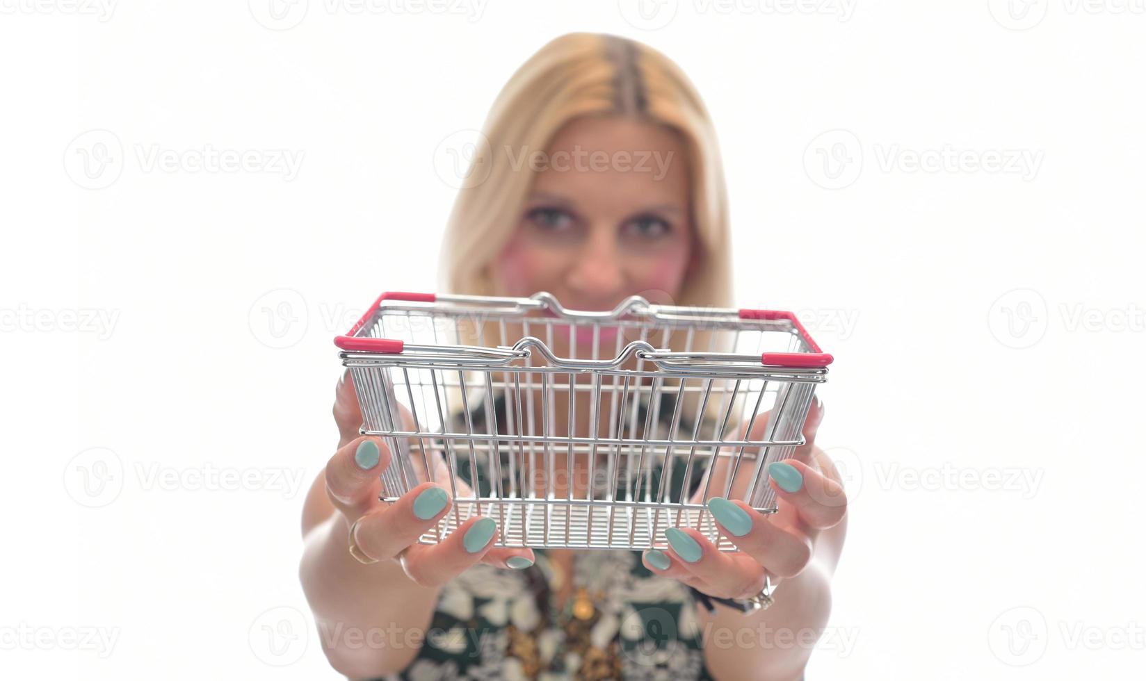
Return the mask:
[(367, 556), (392, 559), (416, 544), (449, 512), (452, 504), (445, 488), (422, 483), (390, 506), (363, 515), (354, 526), (354, 541)]

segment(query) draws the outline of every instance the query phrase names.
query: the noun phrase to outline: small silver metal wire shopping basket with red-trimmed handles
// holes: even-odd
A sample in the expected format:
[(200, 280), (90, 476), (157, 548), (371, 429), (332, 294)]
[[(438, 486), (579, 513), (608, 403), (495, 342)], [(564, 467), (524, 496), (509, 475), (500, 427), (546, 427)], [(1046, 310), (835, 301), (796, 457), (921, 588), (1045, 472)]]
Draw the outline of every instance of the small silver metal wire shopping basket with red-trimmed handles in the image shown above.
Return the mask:
[(832, 362), (791, 312), (549, 293), (383, 293), (335, 343), (361, 431), (392, 452), (380, 499), (427, 480), (454, 499), (421, 541), (485, 515), (497, 545), (535, 548), (664, 548), (691, 526), (736, 551), (704, 501), (776, 510), (764, 467), (804, 443)]

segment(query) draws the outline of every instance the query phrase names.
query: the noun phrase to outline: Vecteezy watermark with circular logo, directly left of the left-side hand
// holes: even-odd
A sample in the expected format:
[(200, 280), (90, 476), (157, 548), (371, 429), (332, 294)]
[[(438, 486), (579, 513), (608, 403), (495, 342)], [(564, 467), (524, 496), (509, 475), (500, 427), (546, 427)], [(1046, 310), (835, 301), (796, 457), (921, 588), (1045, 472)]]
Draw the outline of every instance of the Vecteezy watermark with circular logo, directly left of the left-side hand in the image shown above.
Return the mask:
[[(133, 475), (127, 475), (128, 470)], [(282, 466), (238, 468), (211, 461), (198, 466), (133, 461), (128, 469), (119, 454), (107, 448), (84, 450), (64, 466), (68, 496), (88, 508), (115, 501), (128, 481), (143, 492), (272, 492), (293, 499), (306, 483), (306, 470)]]

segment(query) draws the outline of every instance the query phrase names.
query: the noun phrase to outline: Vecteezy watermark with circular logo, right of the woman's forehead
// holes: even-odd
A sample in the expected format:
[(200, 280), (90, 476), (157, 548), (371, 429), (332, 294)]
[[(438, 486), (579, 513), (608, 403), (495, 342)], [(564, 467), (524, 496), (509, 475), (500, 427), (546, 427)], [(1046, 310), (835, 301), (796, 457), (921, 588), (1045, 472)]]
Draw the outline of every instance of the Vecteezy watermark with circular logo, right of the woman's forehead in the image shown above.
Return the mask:
[(1031, 181), (1043, 166), (1045, 152), (1031, 149), (958, 149), (943, 144), (910, 149), (901, 144), (873, 144), (865, 150), (858, 135), (847, 129), (821, 133), (803, 151), (803, 171), (824, 189), (843, 189), (859, 179), (870, 156), (881, 173), (1011, 175)]

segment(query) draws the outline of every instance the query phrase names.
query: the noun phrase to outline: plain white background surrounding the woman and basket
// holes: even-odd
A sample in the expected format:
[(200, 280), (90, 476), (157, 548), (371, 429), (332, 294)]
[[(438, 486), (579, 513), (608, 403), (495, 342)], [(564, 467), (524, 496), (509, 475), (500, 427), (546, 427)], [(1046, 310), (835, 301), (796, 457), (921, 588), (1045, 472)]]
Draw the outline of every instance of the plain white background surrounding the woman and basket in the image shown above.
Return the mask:
[(815, 311), (838, 358), (808, 678), (1146, 667), (1140, 0), (268, 7), (0, 0), (3, 676), (336, 678), (297, 577), (331, 338), (435, 288), (435, 150), (574, 30), (689, 73), (738, 302)]

